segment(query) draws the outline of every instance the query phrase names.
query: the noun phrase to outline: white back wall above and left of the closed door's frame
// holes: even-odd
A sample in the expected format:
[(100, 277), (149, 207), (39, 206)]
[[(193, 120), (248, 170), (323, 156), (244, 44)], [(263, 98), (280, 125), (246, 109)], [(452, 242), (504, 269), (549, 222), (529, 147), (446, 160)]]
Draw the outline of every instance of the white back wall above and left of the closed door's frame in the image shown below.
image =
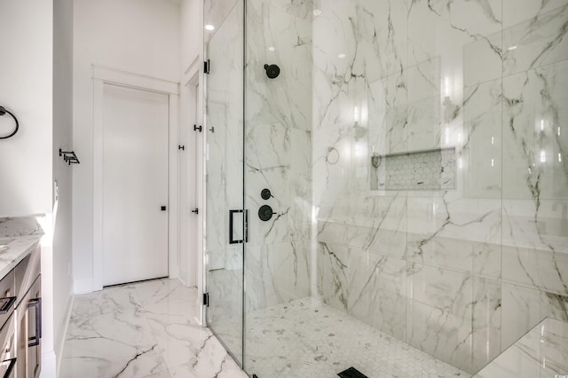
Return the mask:
[[(157, 0), (75, 0), (73, 180), (75, 293), (93, 289), (92, 64), (179, 82), (179, 5)], [(171, 208), (171, 203), (170, 203)]]

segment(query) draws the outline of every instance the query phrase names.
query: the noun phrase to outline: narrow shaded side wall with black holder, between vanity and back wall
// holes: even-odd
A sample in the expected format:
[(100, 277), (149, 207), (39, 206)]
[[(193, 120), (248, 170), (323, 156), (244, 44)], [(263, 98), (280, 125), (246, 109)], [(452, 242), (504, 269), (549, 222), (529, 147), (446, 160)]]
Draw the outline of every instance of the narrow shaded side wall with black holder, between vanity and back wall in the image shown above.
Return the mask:
[[(54, 0), (53, 2), (53, 180), (58, 185), (57, 213), (54, 214), (52, 247), (52, 287), (43, 286), (44, 301), (51, 313), (51, 345), (59, 362), (65, 338), (68, 313), (73, 299), (72, 264), (72, 192), (73, 171), (78, 166), (69, 166), (59, 157), (59, 148), (65, 151), (73, 146), (73, 0)], [(79, 159), (81, 152), (77, 151)], [(43, 270), (43, 275), (45, 275)], [(49, 335), (49, 334), (48, 334)], [(43, 335), (43, 353), (50, 352), (51, 345)], [(51, 336), (51, 335), (50, 335)], [(43, 358), (44, 360), (46, 358)], [(59, 364), (57, 364), (59, 366)], [(47, 367), (47, 366), (46, 366)], [(47, 370), (45, 371), (47, 374)], [(53, 373), (53, 372), (51, 372)], [(45, 375), (53, 376), (53, 375)]]

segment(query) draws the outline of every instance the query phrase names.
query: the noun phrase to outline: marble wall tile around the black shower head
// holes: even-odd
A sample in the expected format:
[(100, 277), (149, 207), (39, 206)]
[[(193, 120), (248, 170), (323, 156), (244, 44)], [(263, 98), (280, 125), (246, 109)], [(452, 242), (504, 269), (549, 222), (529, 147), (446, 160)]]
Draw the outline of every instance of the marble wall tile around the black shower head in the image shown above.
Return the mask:
[[(246, 132), (268, 124), (310, 130), (312, 120), (311, 23), (268, 2), (247, 4)], [(264, 65), (278, 64), (269, 79)], [(267, 140), (256, 139), (257, 143)]]

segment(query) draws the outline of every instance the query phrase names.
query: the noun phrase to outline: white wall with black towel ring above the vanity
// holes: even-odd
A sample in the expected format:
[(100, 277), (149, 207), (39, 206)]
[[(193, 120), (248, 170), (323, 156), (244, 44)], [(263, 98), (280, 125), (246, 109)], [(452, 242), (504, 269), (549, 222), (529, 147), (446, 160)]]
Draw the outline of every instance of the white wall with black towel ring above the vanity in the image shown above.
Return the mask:
[(0, 217), (51, 212), (52, 27), (51, 0), (0, 0), (0, 105), (20, 121), (0, 140)]

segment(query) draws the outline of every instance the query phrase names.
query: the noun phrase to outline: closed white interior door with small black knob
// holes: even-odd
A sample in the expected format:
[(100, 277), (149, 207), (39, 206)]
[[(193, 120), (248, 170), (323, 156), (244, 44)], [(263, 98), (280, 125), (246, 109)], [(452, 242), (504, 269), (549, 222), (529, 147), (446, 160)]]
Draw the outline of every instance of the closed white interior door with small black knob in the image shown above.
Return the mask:
[(168, 100), (104, 86), (104, 286), (168, 276)]

